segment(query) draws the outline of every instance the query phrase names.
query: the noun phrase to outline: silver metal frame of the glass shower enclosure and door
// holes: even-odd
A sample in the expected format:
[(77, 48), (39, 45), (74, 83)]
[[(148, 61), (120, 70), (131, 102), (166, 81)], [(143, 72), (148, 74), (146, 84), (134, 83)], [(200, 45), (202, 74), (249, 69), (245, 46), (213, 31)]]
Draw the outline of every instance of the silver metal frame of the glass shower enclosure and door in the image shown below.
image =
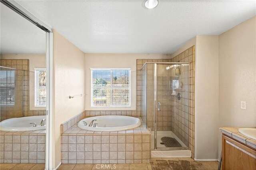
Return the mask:
[[(186, 64), (186, 65), (188, 65), (188, 74), (189, 74), (190, 65), (189, 65), (189, 63), (146, 62), (146, 63), (143, 64), (143, 66), (140, 70), (142, 70), (146, 64), (154, 64), (154, 149), (151, 149), (151, 150), (188, 150), (189, 149), (188, 146), (186, 148), (185, 147), (184, 148), (182, 148), (182, 147), (172, 147), (172, 148), (159, 148), (159, 149), (157, 149), (157, 143), (156, 143), (157, 142), (157, 140), (156, 140), (156, 135), (157, 135), (156, 113), (157, 113), (157, 109), (158, 109), (157, 108), (157, 64), (172, 64), (172, 65)], [(147, 68), (146, 68), (146, 73), (147, 73)], [(146, 74), (146, 77), (147, 77), (147, 74)], [(147, 80), (147, 78), (146, 78), (146, 80)], [(147, 87), (147, 82), (146, 82), (146, 87)], [(146, 112), (146, 114), (147, 114), (147, 112)]]

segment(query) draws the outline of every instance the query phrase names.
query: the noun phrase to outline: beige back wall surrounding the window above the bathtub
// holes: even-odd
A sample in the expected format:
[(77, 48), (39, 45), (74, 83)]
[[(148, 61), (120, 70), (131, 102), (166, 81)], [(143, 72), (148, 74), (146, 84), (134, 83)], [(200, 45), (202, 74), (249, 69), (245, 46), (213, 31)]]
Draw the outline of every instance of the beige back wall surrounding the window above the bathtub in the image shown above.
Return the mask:
[[(86, 110), (136, 110), (136, 59), (169, 59), (165, 54), (85, 54)], [(90, 68), (131, 68), (131, 107), (90, 107)]]

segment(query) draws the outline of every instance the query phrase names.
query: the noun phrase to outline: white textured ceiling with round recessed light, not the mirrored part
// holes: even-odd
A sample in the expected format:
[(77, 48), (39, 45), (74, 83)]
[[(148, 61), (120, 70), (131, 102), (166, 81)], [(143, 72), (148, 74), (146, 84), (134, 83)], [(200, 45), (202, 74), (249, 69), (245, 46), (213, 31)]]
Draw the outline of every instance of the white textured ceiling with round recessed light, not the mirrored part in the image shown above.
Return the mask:
[(219, 35), (256, 15), (256, 1), (17, 1), (85, 53), (173, 53), (196, 35)]

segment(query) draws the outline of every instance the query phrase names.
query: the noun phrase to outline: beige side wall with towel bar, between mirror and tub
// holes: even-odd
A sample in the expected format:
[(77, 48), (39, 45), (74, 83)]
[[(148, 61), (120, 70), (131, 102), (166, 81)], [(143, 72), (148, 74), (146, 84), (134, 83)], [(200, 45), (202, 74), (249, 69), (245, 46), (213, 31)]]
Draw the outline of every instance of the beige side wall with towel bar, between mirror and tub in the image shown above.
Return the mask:
[(84, 111), (84, 97), (69, 99), (69, 95), (84, 94), (84, 53), (57, 31), (53, 31), (53, 167), (60, 163), (60, 124)]

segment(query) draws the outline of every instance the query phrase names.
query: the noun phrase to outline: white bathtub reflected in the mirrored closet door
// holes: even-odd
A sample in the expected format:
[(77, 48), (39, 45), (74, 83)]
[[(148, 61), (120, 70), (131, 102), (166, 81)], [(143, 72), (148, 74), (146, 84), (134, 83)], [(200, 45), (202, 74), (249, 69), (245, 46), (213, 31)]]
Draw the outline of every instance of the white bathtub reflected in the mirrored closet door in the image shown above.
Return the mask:
[[(35, 131), (46, 129), (46, 121), (44, 121), (44, 126), (40, 126), (42, 119), (46, 119), (46, 116), (26, 116), (6, 119), (0, 122), (1, 131)], [(36, 127), (32, 124), (36, 123)]]

